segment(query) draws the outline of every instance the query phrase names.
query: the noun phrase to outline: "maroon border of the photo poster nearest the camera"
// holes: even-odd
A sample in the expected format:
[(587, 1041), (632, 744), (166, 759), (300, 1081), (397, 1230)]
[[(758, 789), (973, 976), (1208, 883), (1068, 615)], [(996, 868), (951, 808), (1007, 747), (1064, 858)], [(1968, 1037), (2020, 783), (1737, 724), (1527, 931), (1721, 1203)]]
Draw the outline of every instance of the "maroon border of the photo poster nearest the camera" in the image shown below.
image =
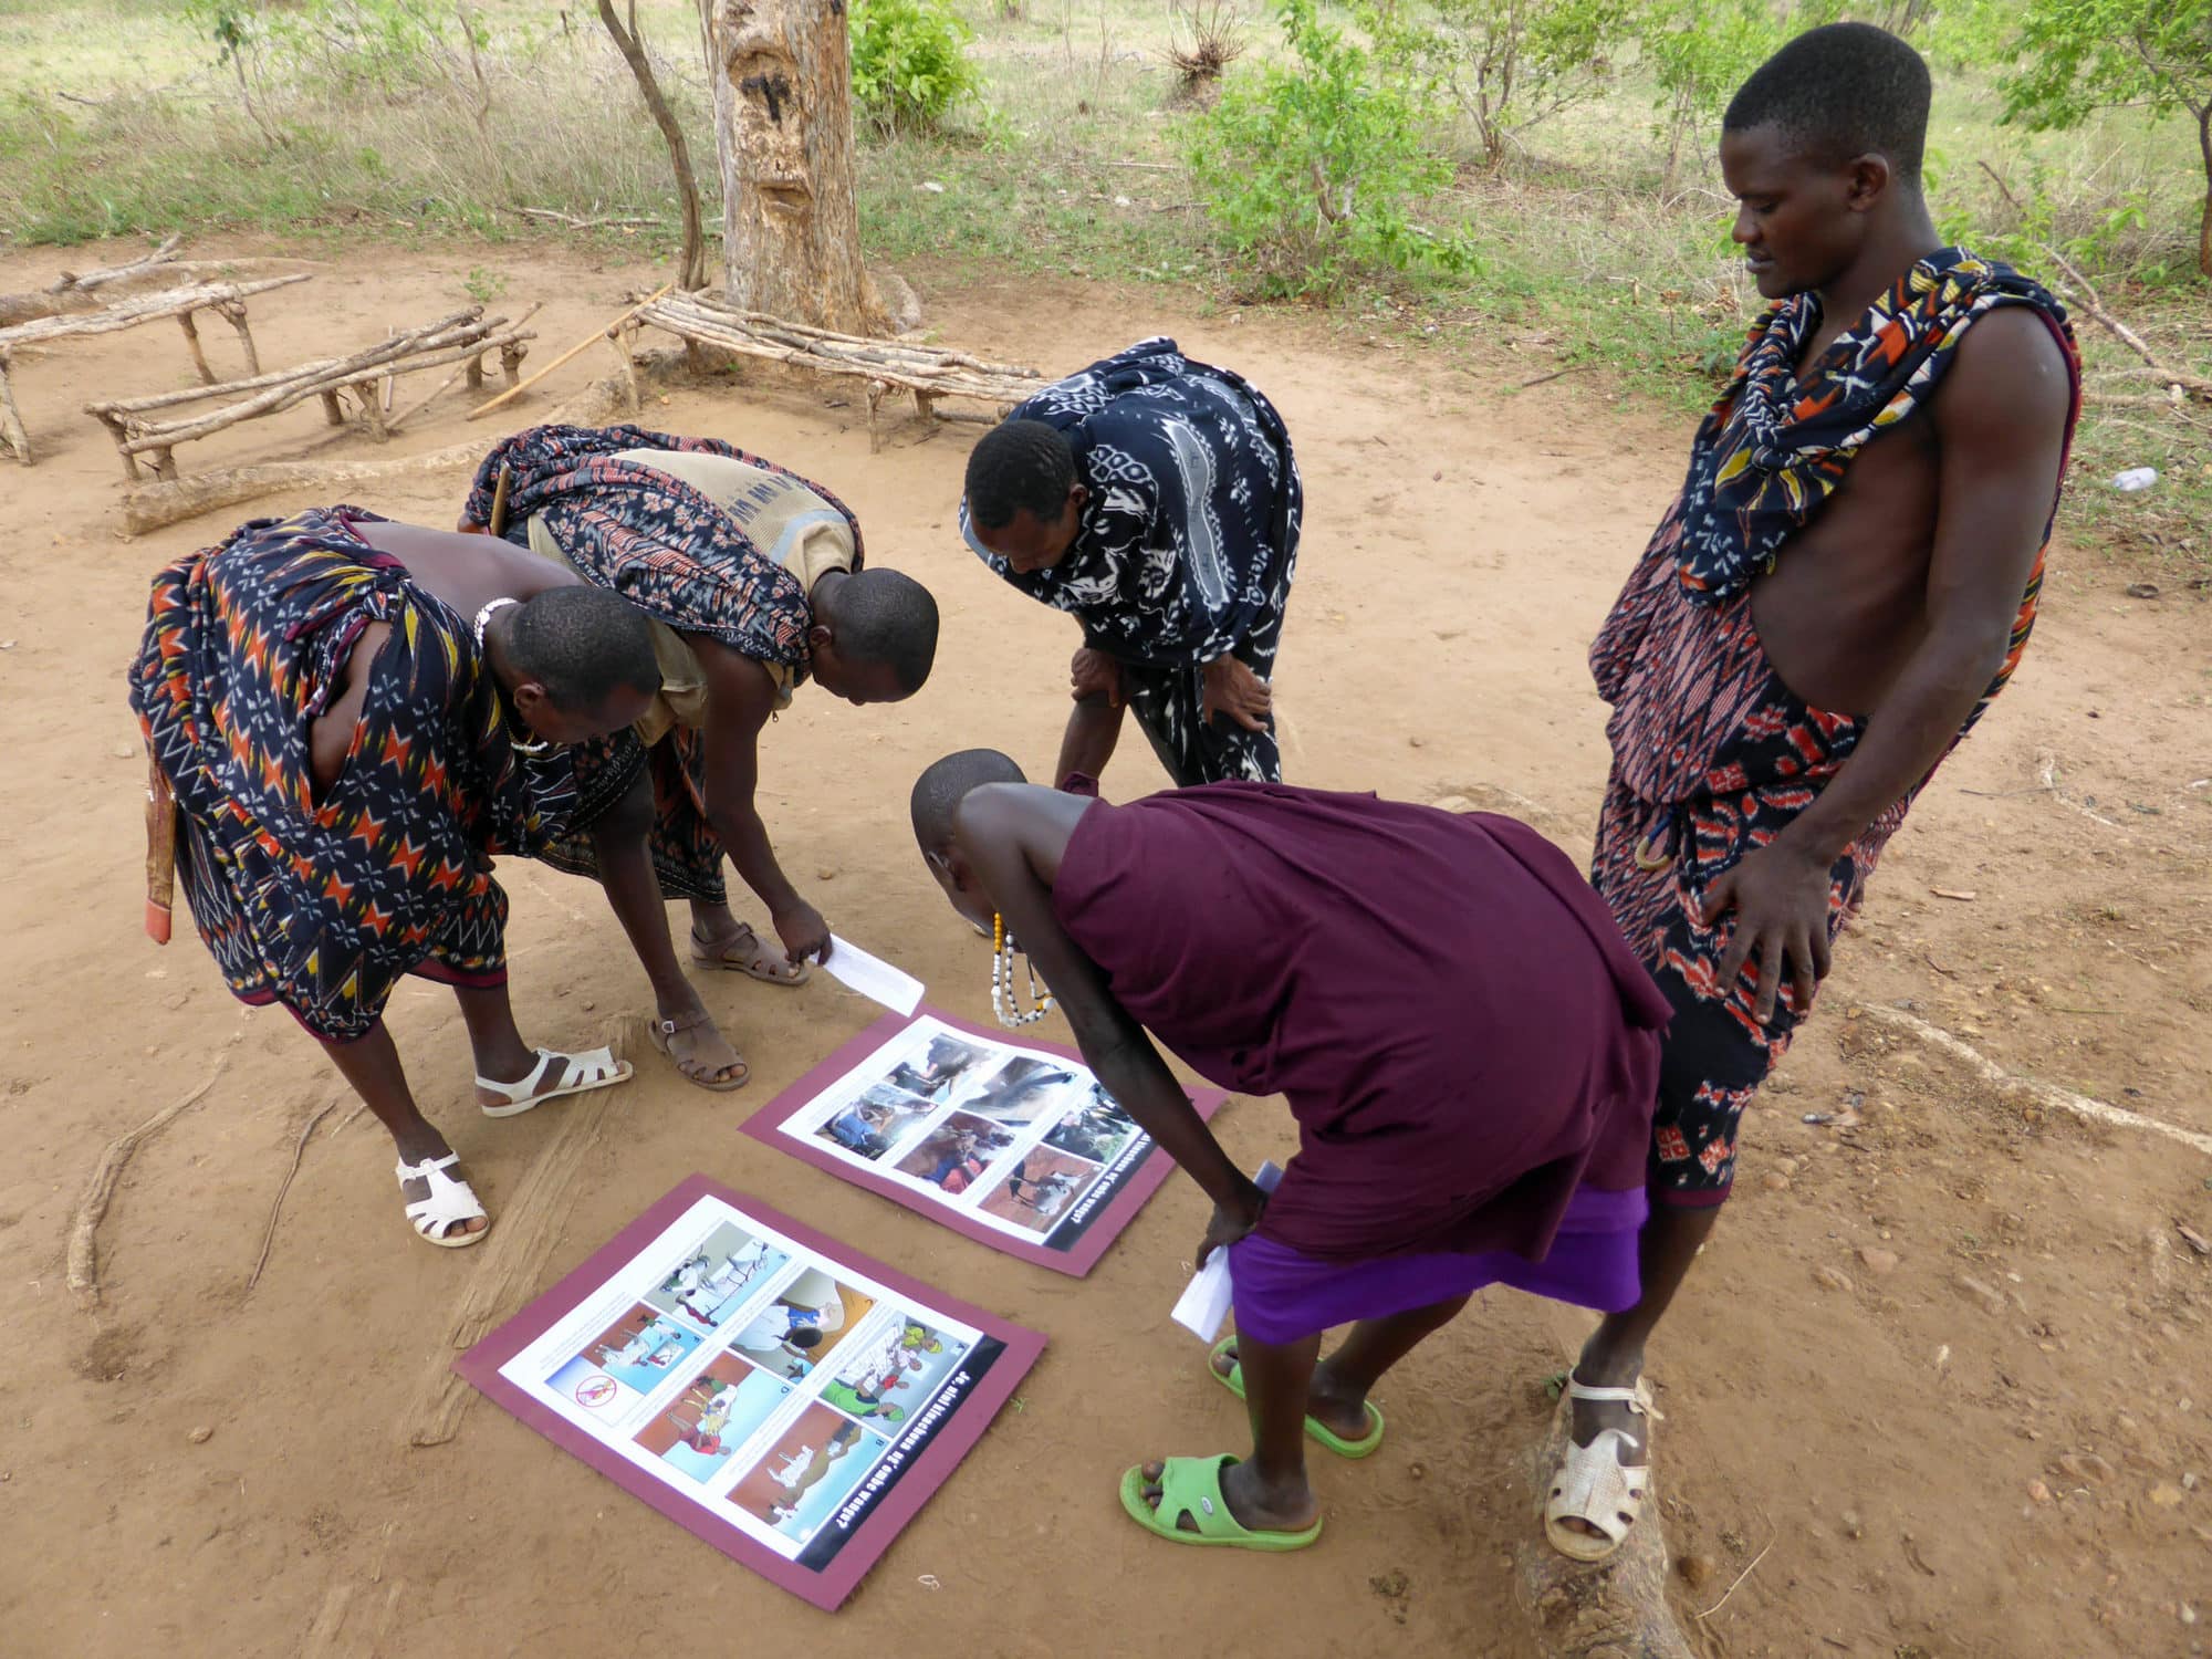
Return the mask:
[[(619, 1267), (653, 1243), (699, 1199), (721, 1199), (723, 1203), (743, 1210), (748, 1217), (757, 1217), (768, 1223), (794, 1243), (818, 1252), (827, 1263), (867, 1274), (880, 1285), (887, 1285), (902, 1296), (911, 1296), (925, 1310), (933, 1307), (951, 1314), (953, 1318), (973, 1325), (984, 1336), (1004, 1343), (1004, 1352), (960, 1400), (951, 1420), (936, 1436), (931, 1436), (898, 1484), (891, 1486), (860, 1520), (852, 1540), (836, 1553), (836, 1559), (818, 1573), (803, 1568), (799, 1562), (783, 1559), (765, 1544), (748, 1537), (741, 1528), (721, 1520), (712, 1511), (701, 1509), (677, 1489), (661, 1484), (617, 1455), (611, 1447), (555, 1413), (551, 1407), (531, 1398), (522, 1387), (500, 1376), (500, 1367), (507, 1365), (507, 1360), (544, 1336), (544, 1332), (560, 1323), (586, 1296), (597, 1294)], [(750, 1566), (770, 1584), (779, 1584), (825, 1613), (834, 1613), (845, 1597), (852, 1595), (854, 1586), (858, 1586), (860, 1577), (876, 1564), (883, 1551), (889, 1548), (891, 1540), (898, 1537), (909, 1520), (914, 1520), (916, 1511), (920, 1511), (936, 1489), (945, 1484), (947, 1475), (951, 1475), (960, 1460), (982, 1438), (982, 1431), (991, 1427), (991, 1418), (995, 1418), (1006, 1400), (1013, 1398), (1013, 1391), (1029, 1374), (1029, 1367), (1037, 1363), (1042, 1352), (1042, 1332), (1026, 1329), (1000, 1318), (998, 1314), (987, 1314), (958, 1296), (931, 1290), (911, 1274), (887, 1267), (874, 1256), (865, 1256), (801, 1221), (792, 1221), (781, 1210), (737, 1192), (708, 1175), (692, 1175), (664, 1199), (655, 1201), (641, 1217), (637, 1217), (637, 1221), (599, 1245), (557, 1285), (538, 1296), (529, 1307), (453, 1360), (453, 1369), (476, 1385), (489, 1400), (520, 1418), (526, 1427), (535, 1429), (575, 1458), (582, 1458), (626, 1493), (650, 1504), (692, 1537), (699, 1537), (730, 1559)]]

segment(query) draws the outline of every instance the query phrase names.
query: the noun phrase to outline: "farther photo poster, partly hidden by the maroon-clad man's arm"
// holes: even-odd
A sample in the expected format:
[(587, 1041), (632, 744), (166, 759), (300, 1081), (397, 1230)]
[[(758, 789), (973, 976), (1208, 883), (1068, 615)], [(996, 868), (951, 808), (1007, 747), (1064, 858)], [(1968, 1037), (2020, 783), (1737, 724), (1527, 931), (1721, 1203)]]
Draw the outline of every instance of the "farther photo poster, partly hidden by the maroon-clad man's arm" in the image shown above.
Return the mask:
[[(1201, 1115), (1221, 1091), (1201, 1091)], [(1086, 1274), (1172, 1161), (1071, 1051), (889, 1015), (745, 1133), (1006, 1254)]]

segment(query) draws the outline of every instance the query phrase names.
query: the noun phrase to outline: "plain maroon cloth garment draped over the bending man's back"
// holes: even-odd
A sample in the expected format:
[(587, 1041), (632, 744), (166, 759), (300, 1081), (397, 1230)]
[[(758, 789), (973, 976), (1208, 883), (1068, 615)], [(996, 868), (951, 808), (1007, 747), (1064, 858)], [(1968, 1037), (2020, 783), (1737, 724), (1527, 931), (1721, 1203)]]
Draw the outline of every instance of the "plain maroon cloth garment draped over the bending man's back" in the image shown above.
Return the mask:
[(1644, 1186), (1668, 1004), (1522, 823), (1267, 783), (1102, 801), (1053, 909), (1186, 1064), (1290, 1099), (1259, 1239), (1535, 1263), (1577, 1188)]

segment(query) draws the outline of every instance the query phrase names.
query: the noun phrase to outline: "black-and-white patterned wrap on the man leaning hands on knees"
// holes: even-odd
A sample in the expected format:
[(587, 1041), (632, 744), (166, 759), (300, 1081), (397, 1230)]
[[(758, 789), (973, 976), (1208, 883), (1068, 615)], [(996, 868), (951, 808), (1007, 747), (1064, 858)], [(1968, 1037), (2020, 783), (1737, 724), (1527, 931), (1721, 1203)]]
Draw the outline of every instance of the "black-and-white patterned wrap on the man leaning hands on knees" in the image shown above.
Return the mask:
[(1022, 575), (984, 549), (960, 502), (969, 546), (1121, 664), (1128, 703), (1177, 783), (1279, 783), (1272, 730), (1203, 719), (1199, 666), (1232, 653), (1261, 679), (1274, 670), (1305, 504), (1283, 416), (1241, 376), (1150, 338), (1006, 418), (1064, 431), (1091, 500), (1048, 571)]

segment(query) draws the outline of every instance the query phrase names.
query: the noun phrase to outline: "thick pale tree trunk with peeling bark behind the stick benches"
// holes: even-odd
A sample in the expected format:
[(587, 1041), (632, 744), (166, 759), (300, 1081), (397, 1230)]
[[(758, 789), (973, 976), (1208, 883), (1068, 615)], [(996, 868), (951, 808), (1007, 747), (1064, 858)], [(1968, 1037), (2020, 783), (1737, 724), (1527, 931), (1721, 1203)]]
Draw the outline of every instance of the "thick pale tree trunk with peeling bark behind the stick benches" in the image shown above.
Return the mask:
[(714, 139), (730, 303), (883, 334), (860, 263), (845, 0), (717, 0)]

